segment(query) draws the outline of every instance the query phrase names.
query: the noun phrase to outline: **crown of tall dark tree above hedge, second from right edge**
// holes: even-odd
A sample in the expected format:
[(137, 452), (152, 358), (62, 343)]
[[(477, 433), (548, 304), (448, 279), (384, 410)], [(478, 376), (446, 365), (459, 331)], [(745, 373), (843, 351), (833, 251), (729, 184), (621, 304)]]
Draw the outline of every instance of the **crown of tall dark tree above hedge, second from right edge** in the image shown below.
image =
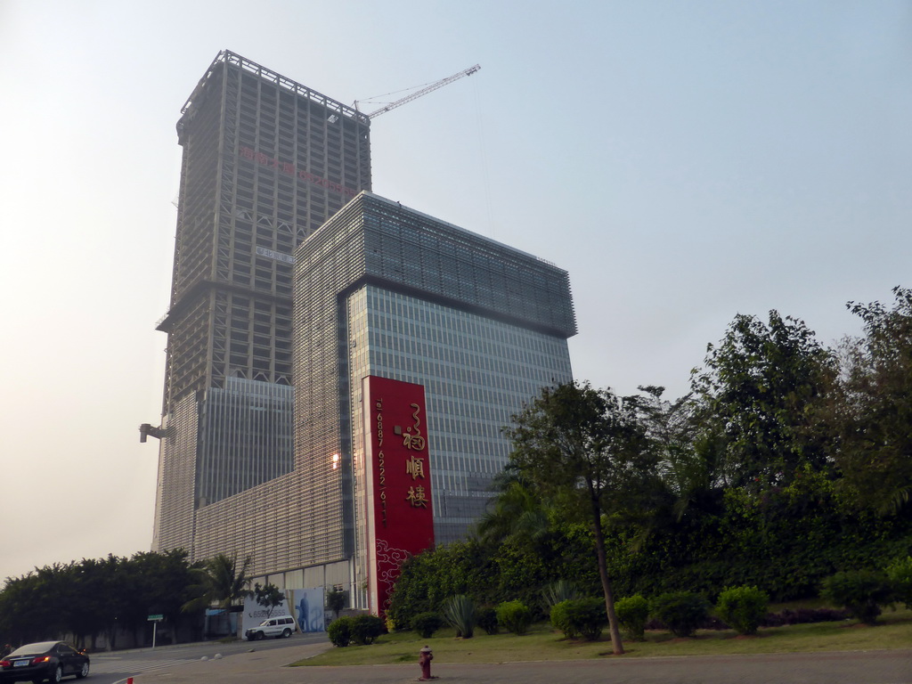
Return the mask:
[(818, 425), (822, 398), (835, 374), (834, 355), (803, 321), (776, 311), (769, 323), (735, 316), (691, 387), (710, 435), (723, 439), (726, 484), (761, 491), (791, 482), (800, 466), (827, 466)]

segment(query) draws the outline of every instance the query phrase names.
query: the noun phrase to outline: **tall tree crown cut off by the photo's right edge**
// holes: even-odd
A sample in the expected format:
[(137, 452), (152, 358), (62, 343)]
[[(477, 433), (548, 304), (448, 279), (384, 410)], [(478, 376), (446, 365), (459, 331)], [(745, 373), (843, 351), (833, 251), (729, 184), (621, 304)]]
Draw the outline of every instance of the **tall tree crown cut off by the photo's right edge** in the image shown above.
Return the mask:
[(845, 340), (831, 414), (845, 485), (882, 513), (912, 500), (912, 289), (893, 294), (892, 308), (848, 303), (865, 337)]

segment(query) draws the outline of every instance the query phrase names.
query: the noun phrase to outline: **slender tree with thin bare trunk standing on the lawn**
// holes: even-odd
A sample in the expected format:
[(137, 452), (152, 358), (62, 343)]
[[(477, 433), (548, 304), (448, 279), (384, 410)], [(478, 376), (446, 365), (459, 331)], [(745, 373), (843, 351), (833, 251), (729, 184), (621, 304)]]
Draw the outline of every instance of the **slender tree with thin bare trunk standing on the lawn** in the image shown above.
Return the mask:
[(651, 486), (655, 462), (637, 410), (637, 401), (619, 399), (607, 389), (566, 383), (543, 389), (504, 429), (513, 441), (512, 460), (519, 472), (591, 525), (617, 655), (624, 647), (608, 576), (602, 516), (636, 515)]

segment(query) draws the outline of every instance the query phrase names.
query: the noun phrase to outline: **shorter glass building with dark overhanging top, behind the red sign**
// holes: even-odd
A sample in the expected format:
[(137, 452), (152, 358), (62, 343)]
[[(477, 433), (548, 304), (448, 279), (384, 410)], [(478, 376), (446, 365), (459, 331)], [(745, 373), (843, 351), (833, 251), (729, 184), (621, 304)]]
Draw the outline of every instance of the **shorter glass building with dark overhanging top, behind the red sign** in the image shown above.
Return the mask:
[(437, 544), (484, 512), (511, 416), (573, 378), (565, 271), (369, 192), (298, 249), (294, 319), (295, 470), (306, 519), (325, 521), (307, 562), (352, 559), (356, 587), (371, 579), (365, 378), (424, 388)]

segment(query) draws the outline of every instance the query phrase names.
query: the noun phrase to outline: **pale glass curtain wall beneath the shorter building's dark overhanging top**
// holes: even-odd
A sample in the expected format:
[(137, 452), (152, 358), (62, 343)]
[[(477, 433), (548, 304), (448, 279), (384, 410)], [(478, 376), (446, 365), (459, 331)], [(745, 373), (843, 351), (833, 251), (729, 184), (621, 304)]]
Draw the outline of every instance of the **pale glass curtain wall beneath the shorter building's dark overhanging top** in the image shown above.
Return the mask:
[(465, 537), (491, 497), (510, 443), (501, 429), (540, 389), (572, 380), (566, 340), (366, 285), (347, 298), (348, 387), (359, 567), (364, 565), (366, 486), (361, 380), (425, 388), (434, 534)]

